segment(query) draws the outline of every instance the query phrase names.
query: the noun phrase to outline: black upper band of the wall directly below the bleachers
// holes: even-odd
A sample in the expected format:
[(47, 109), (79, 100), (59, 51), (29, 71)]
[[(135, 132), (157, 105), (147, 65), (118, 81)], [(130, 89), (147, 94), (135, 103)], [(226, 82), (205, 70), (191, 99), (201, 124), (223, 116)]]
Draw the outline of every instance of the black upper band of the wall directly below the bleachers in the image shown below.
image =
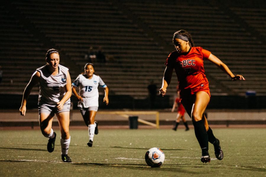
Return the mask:
[[(149, 99), (134, 99), (129, 95), (109, 95), (106, 106), (103, 95), (99, 96), (99, 109), (150, 109)], [(19, 109), (22, 95), (0, 94), (1, 109)], [(77, 99), (72, 95), (73, 109), (77, 109)], [(38, 95), (30, 95), (27, 109), (38, 108)], [(153, 109), (171, 108), (170, 96), (156, 96)], [(266, 109), (266, 96), (212, 96), (207, 109)]]

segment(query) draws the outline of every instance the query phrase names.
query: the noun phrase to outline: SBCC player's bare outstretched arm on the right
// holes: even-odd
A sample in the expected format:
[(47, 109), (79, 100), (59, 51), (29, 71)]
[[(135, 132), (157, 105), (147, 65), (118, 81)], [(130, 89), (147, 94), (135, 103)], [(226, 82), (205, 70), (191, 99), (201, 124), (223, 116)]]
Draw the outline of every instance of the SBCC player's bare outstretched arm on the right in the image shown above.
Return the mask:
[(231, 70), (228, 68), (226, 64), (224, 64), (219, 58), (217, 58), (215, 55), (210, 54), (208, 60), (212, 63), (214, 63), (218, 68), (220, 68), (223, 72), (225, 72), (228, 76), (231, 77), (233, 81), (236, 80), (246, 80), (242, 75), (234, 75)]

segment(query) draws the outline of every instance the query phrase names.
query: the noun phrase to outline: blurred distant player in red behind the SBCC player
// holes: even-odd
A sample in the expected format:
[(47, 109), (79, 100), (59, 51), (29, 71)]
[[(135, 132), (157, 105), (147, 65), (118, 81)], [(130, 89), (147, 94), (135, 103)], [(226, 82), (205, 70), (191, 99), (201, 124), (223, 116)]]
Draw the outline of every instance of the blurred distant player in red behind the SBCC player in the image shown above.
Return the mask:
[(179, 125), (180, 119), (182, 119), (182, 121), (183, 121), (183, 123), (184, 123), (184, 125), (186, 127), (186, 131), (188, 131), (189, 127), (188, 127), (186, 119), (184, 117), (184, 114), (185, 114), (186, 110), (185, 110), (184, 106), (180, 103), (178, 86), (176, 87), (176, 89), (177, 89), (176, 90), (177, 91), (177, 97), (176, 97), (175, 102), (173, 104), (172, 112), (174, 112), (175, 108), (177, 107), (177, 112), (178, 113), (177, 113), (177, 116), (176, 116), (176, 125), (175, 125), (175, 127), (173, 127), (173, 130), (176, 131), (176, 129), (177, 129), (178, 125)]

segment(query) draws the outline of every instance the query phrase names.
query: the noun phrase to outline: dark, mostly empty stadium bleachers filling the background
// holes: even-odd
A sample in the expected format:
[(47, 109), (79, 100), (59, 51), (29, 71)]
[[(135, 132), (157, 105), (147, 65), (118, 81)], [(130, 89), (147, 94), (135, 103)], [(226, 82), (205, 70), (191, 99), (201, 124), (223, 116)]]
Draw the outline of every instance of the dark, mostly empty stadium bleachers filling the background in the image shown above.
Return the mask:
[[(29, 21), (34, 30), (43, 34), (47, 41), (51, 41), (68, 57), (61, 64), (67, 67), (71, 67), (72, 63), (77, 65), (72, 68), (72, 81), (87, 63), (84, 55), (89, 47), (94, 47), (96, 51), (101, 46), (110, 60), (106, 63), (96, 61), (95, 73), (106, 82), (110, 94), (144, 99), (148, 95), (150, 79), (159, 88), (165, 59), (174, 50), (172, 35), (179, 29), (185, 29), (191, 32), (195, 46), (210, 50), (233, 73), (242, 74), (246, 78), (245, 82), (232, 82), (220, 69), (206, 61), (205, 71), (212, 95), (243, 96), (247, 90), (254, 90), (257, 95), (265, 96), (265, 38), (254, 35), (256, 31), (266, 36), (265, 9), (245, 8), (243, 3), (241, 7), (233, 4), (225, 9), (215, 2), (6, 2), (0, 6), (0, 61), (4, 71), (0, 93), (22, 94), (34, 70), (45, 64), (47, 42), (44, 44), (43, 38), (31, 34), (25, 24)], [(10, 6), (26, 20), (19, 21), (17, 14), (12, 15)], [(243, 26), (237, 18), (243, 19), (249, 28)], [(254, 31), (250, 31), (250, 27)], [(175, 95), (176, 85), (177, 79), (173, 73), (168, 89), (170, 96)], [(37, 86), (33, 93), (38, 93)]]

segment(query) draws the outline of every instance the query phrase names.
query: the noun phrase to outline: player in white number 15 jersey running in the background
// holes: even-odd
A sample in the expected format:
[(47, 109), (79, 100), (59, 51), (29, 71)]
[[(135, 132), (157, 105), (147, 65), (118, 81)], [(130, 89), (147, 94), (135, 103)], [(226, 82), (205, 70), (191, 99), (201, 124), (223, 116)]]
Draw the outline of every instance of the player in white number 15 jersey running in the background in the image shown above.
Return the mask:
[[(108, 87), (105, 85), (100, 76), (94, 74), (94, 65), (87, 63), (84, 66), (84, 73), (80, 74), (76, 80), (72, 83), (72, 91), (78, 99), (78, 107), (84, 119), (85, 124), (89, 131), (89, 142), (87, 145), (92, 147), (94, 134), (98, 134), (98, 122), (94, 122), (96, 112), (98, 111), (98, 86), (105, 89), (105, 96), (103, 102), (108, 105)], [(76, 88), (79, 87), (79, 94), (77, 94)]]

